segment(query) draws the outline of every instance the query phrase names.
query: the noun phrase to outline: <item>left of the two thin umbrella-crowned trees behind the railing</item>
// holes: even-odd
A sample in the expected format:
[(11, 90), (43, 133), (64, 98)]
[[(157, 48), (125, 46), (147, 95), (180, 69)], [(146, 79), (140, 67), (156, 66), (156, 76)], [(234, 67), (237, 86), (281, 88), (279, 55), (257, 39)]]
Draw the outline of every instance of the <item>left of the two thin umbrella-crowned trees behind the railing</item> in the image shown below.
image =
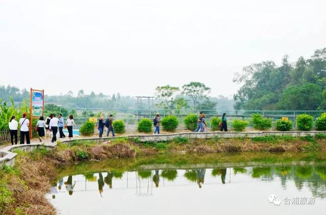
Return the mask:
[(157, 86), (155, 90), (155, 98), (159, 99), (161, 101), (160, 105), (170, 110), (171, 113), (174, 105), (175, 95), (180, 90), (179, 87), (170, 85)]

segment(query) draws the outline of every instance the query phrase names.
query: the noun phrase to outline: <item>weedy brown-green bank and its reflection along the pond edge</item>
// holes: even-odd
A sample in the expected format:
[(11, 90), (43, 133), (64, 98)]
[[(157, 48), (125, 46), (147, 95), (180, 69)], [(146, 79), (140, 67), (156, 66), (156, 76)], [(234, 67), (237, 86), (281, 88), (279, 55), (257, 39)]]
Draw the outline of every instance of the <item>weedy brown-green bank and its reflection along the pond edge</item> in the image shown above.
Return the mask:
[[(264, 136), (209, 140), (179, 137), (155, 143), (141, 143), (130, 138), (116, 138), (111, 143), (75, 140), (70, 145), (58, 143), (54, 150), (45, 147), (32, 152), (15, 150), (18, 153), (15, 166), (3, 166), (0, 171), (0, 214), (55, 214), (55, 208), (44, 197), (51, 181), (58, 177), (60, 168), (71, 165), (76, 167), (72, 168), (76, 171), (78, 168), (87, 168), (87, 163), (83, 161), (108, 159), (113, 164), (112, 168), (120, 169), (155, 163), (286, 162), (293, 159), (320, 161), (324, 155), (320, 152), (325, 150), (326, 136), (323, 134), (315, 137)], [(270, 151), (284, 152), (281, 157), (276, 157)], [(237, 153), (221, 157), (222, 152)], [(126, 164), (126, 159), (134, 162)], [(83, 165), (78, 165), (79, 162)], [(102, 162), (97, 163), (100, 165)], [(98, 166), (98, 169), (101, 168)]]

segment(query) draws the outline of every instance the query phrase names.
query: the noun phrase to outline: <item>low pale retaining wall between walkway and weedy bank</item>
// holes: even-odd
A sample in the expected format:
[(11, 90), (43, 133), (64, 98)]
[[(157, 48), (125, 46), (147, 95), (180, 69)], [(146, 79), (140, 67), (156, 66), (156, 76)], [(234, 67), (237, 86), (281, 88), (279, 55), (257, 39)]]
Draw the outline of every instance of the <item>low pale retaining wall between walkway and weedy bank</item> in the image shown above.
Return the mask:
[[(71, 144), (73, 141), (84, 141), (92, 140), (96, 142), (104, 142), (109, 139), (114, 138), (133, 138), (137, 139), (139, 142), (164, 142), (173, 140), (176, 137), (186, 137), (188, 139), (210, 139), (210, 138), (253, 138), (253, 137), (263, 137), (268, 135), (284, 136), (289, 135), (293, 137), (304, 137), (304, 136), (315, 136), (316, 134), (326, 134), (326, 131), (289, 131), (289, 132), (205, 132), (205, 133), (174, 133), (174, 134), (160, 134), (160, 135), (126, 135), (119, 137), (102, 137), (102, 138), (79, 138), (74, 140), (63, 140), (62, 143)], [(15, 163), (15, 157), (17, 153), (13, 152), (15, 149), (20, 149), (24, 151), (32, 151), (34, 148), (40, 146), (45, 146), (49, 149), (53, 149), (57, 146), (57, 143), (32, 143), (32, 144), (22, 144), (22, 145), (10, 145), (0, 150), (0, 166), (8, 165), (13, 166)]]

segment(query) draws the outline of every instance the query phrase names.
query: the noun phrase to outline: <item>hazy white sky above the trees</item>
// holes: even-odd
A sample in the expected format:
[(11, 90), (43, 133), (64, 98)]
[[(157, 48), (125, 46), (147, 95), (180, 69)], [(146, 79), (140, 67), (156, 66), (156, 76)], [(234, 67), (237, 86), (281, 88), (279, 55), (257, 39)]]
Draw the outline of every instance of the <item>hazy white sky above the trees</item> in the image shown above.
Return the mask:
[(151, 96), (326, 47), (325, 0), (0, 0), (0, 85)]

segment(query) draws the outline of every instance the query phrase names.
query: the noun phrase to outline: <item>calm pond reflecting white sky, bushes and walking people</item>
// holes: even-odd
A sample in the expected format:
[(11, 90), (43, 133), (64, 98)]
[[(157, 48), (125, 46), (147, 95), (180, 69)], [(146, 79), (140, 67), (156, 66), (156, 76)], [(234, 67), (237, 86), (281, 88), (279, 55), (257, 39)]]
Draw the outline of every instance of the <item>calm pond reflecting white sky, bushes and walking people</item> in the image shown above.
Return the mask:
[(289, 158), (91, 162), (60, 169), (47, 197), (61, 214), (323, 213), (326, 164)]

